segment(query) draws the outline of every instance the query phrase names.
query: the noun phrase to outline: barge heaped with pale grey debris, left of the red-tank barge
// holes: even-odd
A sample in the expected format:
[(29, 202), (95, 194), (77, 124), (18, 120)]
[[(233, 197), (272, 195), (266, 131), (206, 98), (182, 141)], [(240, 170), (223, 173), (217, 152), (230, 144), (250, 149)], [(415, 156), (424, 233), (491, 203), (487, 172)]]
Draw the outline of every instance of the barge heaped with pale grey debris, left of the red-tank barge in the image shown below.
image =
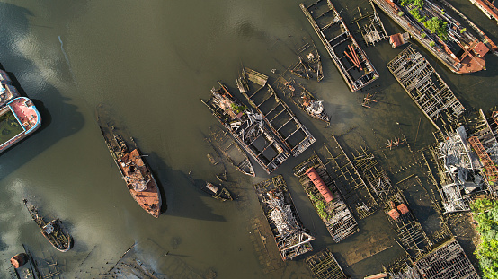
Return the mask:
[(299, 219), (298, 211), (281, 175), (254, 185), (262, 212), (271, 227), (282, 260), (313, 250), (315, 240)]

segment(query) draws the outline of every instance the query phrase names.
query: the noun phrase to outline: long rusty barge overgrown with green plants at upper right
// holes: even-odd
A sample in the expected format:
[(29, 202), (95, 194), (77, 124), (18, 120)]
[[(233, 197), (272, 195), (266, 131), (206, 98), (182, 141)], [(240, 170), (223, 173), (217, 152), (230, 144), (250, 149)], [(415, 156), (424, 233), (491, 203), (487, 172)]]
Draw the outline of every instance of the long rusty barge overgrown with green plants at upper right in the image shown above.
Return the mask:
[(498, 50), (476, 24), (444, 0), (372, 1), (453, 73), (485, 70), (485, 55)]

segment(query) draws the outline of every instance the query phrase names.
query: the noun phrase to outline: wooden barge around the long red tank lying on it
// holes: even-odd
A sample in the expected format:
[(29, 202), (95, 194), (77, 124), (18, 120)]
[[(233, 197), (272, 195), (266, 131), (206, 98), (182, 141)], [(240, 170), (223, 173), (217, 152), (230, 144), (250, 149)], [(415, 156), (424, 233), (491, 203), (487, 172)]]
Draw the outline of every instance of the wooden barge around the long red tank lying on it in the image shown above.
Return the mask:
[[(323, 179), (325, 186), (331, 190), (334, 197), (332, 201), (327, 203), (311, 179), (307, 176), (307, 170), (310, 168), (316, 170), (320, 178)], [(294, 167), (293, 172), (305, 189), (307, 197), (315, 206), (316, 212), (319, 212), (318, 204), (320, 203), (325, 208), (322, 209), (325, 212), (325, 216), (319, 215), (325, 223), (327, 231), (329, 231), (333, 241), (339, 243), (341, 240), (344, 240), (359, 231), (358, 223), (351, 214), (348, 205), (344, 203), (341, 192), (335, 186), (333, 179), (325, 169), (325, 165), (316, 154), (307, 159), (307, 161), (303, 161), (298, 164), (298, 166)]]

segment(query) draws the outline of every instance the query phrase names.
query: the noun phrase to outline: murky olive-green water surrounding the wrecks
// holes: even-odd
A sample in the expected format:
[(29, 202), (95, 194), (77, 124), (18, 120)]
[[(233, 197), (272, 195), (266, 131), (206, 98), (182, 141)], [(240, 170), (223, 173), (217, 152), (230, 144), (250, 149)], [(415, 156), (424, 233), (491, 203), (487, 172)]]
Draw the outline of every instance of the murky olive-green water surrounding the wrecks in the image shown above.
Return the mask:
[[(466, 0), (455, 2), (492, 39), (498, 37), (494, 22), (474, 5)], [(393, 183), (412, 173), (422, 177), (425, 170), (411, 167), (406, 146), (389, 150), (385, 143), (405, 136), (414, 150), (431, 144), (431, 123), (387, 71), (387, 61), (400, 49), (392, 49), (387, 41), (365, 48), (380, 78), (363, 92), (351, 93), (298, 4), (262, 0), (1, 3), (0, 63), (22, 94), (34, 100), (43, 126), (0, 156), (0, 255), (5, 259), (0, 273), (8, 266), (6, 259), (22, 251), (22, 243), (35, 253), (53, 254), (67, 278), (108, 272), (135, 243), (134, 253), (140, 261), (158, 275), (173, 278), (182, 270), (188, 270), (192, 278), (309, 277), (304, 257), (262, 264), (271, 257), (262, 254), (264, 246), (258, 242), (262, 238), (254, 235), (258, 231), (254, 220), (261, 218), (262, 212), (253, 185), (270, 176), (255, 162), (256, 178), (227, 164), (225, 186), (238, 196), (234, 202), (220, 203), (206, 196), (186, 177), (192, 171), (195, 179), (217, 181), (218, 170), (206, 156), (212, 150), (203, 135), (218, 123), (199, 99), (206, 100), (218, 80), (226, 83), (230, 92), (237, 92), (235, 80), (241, 63), (269, 74), (274, 83), (295, 63), (306, 36), (315, 40), (322, 55), (325, 78), (320, 83), (299, 82), (324, 100), (331, 126), (309, 118), (278, 92), (316, 137), (316, 143), (273, 174), (284, 175), (288, 182), (300, 219), (316, 235), (313, 247), (330, 248), (353, 278), (377, 273), (379, 266), (402, 255), (396, 242), (374, 237), (394, 236), (381, 212), (360, 220), (357, 234), (333, 244), (292, 168), (324, 143), (331, 143), (331, 134), (348, 132), (341, 138), (346, 150), (368, 145)], [(359, 0), (334, 1), (348, 23), (358, 16), (358, 4), (369, 8)], [(383, 13), (379, 16), (387, 33), (400, 31)], [(354, 31), (354, 24), (349, 27)], [(456, 75), (423, 49), (417, 50), (467, 110), (486, 110), (496, 104), (497, 57), (488, 56), (484, 72)], [(374, 92), (378, 101), (371, 109), (361, 107), (365, 95)], [(165, 214), (157, 220), (136, 204), (116, 170), (95, 122), (94, 108), (101, 102), (119, 113), (148, 154), (167, 202)], [(422, 183), (430, 187), (425, 180)], [(410, 191), (409, 198), (418, 205), (420, 194), (416, 189)], [(75, 239), (72, 250), (64, 254), (52, 251), (22, 208), (24, 197), (35, 199), (43, 211), (65, 221)], [(423, 211), (426, 205), (420, 206), (415, 214), (421, 216), (422, 225), (436, 227), (431, 214)], [(379, 247), (387, 249), (356, 262), (361, 257), (352, 252), (369, 240), (378, 240)], [(270, 239), (266, 245), (274, 244)], [(172, 272), (175, 266), (178, 269)], [(271, 268), (277, 270), (267, 273)]]

